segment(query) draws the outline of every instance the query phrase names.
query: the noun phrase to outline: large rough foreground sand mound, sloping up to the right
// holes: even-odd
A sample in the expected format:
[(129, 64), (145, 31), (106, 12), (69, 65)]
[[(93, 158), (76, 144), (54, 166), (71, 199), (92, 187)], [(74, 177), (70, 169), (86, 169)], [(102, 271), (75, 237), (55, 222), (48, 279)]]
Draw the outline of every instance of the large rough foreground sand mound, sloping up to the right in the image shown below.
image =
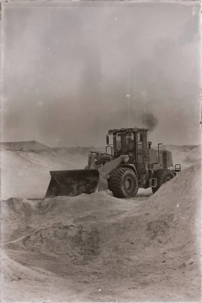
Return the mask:
[(4, 200), (2, 248), (54, 258), (43, 268), (84, 283), (86, 300), (199, 300), (200, 164), (139, 206), (103, 193)]

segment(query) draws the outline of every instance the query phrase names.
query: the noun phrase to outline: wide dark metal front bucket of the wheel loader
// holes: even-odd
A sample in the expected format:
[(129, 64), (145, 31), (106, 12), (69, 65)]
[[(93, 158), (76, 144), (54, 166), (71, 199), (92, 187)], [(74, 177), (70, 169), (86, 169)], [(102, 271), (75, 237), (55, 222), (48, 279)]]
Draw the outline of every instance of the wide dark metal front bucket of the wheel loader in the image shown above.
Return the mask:
[(99, 181), (97, 169), (51, 171), (51, 181), (45, 197), (77, 196), (81, 193), (93, 193)]

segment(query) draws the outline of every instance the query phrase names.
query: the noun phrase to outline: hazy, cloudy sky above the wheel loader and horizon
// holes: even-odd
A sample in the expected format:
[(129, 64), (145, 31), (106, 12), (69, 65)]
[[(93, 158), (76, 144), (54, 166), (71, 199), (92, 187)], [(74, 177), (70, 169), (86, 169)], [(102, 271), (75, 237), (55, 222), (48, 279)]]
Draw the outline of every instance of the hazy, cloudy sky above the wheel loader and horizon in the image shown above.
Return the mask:
[(2, 21), (2, 141), (104, 143), (130, 94), (130, 127), (199, 142), (199, 2), (9, 2)]

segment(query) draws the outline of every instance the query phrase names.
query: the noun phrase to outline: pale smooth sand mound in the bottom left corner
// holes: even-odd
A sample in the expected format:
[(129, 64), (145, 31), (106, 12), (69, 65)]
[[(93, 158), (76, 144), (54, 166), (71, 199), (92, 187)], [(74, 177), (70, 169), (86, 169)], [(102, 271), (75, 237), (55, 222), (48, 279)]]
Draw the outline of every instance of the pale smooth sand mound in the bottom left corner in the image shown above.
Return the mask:
[[(57, 289), (57, 284), (63, 285), (60, 289), (60, 295), (66, 296), (69, 300), (75, 301), (82, 299), (79, 294), (75, 296), (74, 285), (66, 279), (58, 278), (53, 272), (37, 267), (39, 260), (36, 260), (35, 266), (30, 269), (26, 264), (22, 265), (19, 260), (19, 252), (15, 253), (13, 259), (4, 253), (1, 254), (1, 299), (2, 301), (57, 301), (58, 294), (53, 290)], [(25, 260), (30, 259), (30, 254), (25, 255)], [(39, 264), (41, 266), (41, 262)], [(65, 290), (65, 293), (64, 293)]]

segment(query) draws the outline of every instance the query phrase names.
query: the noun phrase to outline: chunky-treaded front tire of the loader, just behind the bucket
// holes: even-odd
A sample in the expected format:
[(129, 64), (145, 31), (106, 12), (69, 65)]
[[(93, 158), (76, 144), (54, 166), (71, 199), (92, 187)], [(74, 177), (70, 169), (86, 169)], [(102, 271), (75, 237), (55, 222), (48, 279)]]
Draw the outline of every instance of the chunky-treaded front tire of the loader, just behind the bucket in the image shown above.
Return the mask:
[(137, 176), (130, 168), (117, 169), (109, 182), (109, 189), (116, 198), (132, 198), (138, 191)]

